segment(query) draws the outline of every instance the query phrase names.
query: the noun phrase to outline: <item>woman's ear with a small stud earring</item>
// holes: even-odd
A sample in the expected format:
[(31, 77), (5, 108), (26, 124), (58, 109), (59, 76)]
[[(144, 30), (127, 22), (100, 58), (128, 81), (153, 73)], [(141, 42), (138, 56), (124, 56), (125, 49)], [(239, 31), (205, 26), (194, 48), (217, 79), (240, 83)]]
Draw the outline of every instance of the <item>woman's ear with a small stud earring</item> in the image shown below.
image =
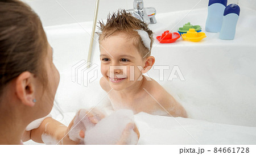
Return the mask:
[(23, 72), (15, 79), (15, 91), (18, 99), (26, 106), (34, 106), (35, 89), (32, 83), (33, 74)]

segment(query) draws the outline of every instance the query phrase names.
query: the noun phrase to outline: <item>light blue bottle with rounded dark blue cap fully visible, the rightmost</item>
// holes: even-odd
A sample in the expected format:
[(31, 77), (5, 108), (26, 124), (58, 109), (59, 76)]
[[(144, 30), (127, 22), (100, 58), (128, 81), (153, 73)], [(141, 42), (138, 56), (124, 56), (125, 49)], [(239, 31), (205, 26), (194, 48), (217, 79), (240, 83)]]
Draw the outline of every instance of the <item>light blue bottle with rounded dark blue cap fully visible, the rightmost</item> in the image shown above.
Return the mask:
[(236, 4), (228, 5), (224, 10), (223, 23), (220, 31), (220, 39), (233, 40), (236, 35), (237, 20), (240, 15), (240, 7)]

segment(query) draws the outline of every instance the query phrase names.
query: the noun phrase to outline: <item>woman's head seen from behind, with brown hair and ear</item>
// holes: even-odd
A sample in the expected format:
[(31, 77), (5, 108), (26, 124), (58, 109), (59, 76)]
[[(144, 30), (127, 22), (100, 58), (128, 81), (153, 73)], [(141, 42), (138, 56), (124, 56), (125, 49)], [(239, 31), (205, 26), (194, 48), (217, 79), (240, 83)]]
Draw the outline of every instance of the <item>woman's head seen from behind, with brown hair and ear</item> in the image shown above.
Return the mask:
[(17, 105), (6, 102), (20, 102), (32, 119), (43, 117), (51, 111), (59, 73), (42, 23), (21, 1), (0, 1), (0, 16), (0, 107), (11, 112)]

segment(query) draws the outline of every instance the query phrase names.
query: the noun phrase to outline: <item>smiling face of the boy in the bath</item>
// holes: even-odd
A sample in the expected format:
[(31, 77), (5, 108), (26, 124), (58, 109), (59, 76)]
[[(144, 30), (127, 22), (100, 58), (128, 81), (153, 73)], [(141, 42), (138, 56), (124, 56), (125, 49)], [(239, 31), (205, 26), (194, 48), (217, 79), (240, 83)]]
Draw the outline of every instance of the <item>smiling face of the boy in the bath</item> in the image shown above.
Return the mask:
[(137, 66), (145, 65), (138, 49), (126, 33), (117, 32), (101, 41), (101, 73), (114, 90), (123, 90), (141, 77)]

